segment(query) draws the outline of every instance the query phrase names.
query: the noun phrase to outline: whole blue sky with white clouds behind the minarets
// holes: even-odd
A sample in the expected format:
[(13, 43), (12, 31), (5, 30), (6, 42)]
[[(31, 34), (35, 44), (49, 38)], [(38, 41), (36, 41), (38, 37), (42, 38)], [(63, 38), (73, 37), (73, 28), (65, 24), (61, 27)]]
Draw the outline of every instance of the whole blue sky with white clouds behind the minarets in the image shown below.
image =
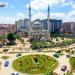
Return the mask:
[(29, 4), (32, 20), (47, 18), (49, 5), (50, 18), (75, 22), (75, 0), (0, 0), (0, 3), (6, 4), (0, 7), (0, 23), (14, 24), (17, 20), (29, 18)]

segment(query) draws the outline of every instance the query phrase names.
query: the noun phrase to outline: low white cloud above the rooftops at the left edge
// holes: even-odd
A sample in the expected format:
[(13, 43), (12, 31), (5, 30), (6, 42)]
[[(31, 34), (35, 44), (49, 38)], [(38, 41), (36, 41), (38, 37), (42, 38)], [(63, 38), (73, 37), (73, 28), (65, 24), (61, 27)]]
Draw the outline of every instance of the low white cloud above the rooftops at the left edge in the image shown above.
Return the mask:
[(16, 20), (20, 20), (24, 18), (25, 16), (22, 13), (17, 13), (16, 16), (0, 14), (0, 23), (14, 24)]

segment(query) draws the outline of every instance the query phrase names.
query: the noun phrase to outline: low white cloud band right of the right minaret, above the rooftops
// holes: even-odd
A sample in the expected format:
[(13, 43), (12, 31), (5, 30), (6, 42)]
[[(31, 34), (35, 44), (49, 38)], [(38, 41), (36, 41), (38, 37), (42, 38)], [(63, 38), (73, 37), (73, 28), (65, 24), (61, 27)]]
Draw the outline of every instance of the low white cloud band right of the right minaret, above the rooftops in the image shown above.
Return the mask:
[(52, 18), (62, 19), (63, 22), (75, 22), (75, 10), (68, 13), (52, 13)]

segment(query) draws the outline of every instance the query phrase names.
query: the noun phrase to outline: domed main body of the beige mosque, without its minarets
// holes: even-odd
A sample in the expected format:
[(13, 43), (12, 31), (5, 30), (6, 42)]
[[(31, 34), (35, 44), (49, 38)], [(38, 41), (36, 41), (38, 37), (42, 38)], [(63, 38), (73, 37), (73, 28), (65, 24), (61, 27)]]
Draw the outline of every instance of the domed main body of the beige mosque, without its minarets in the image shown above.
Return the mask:
[(47, 30), (43, 28), (43, 25), (40, 21), (34, 21), (31, 25), (32, 29), (28, 32), (29, 40), (37, 40), (37, 41), (47, 41), (50, 39), (50, 34)]

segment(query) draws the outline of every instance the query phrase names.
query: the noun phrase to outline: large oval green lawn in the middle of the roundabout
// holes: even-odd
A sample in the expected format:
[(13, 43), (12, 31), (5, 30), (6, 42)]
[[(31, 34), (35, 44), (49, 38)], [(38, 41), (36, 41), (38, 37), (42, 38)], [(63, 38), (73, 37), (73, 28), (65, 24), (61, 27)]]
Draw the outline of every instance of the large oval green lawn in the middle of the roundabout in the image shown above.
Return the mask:
[(26, 55), (13, 62), (15, 70), (22, 73), (40, 74), (53, 71), (58, 65), (56, 59), (46, 55)]

